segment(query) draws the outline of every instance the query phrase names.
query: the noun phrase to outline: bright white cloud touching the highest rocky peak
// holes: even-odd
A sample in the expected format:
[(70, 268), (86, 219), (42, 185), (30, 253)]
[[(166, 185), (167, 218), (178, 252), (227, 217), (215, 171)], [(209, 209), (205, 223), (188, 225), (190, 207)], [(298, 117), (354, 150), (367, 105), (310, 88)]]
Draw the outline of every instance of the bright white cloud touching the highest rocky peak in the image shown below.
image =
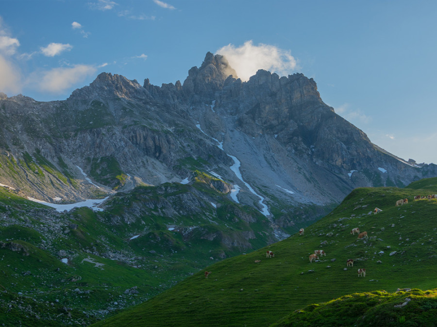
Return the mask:
[(252, 40), (246, 41), (241, 47), (229, 44), (218, 49), (217, 53), (225, 56), (238, 77), (245, 81), (259, 69), (284, 76), (296, 69), (297, 65), (289, 50), (262, 43), (254, 46)]

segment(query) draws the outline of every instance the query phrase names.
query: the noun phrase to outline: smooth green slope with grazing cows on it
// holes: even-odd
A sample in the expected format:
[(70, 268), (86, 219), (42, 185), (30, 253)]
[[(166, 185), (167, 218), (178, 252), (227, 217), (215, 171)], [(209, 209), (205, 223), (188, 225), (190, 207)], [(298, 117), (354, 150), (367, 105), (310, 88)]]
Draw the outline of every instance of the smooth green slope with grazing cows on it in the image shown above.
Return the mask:
[[(208, 278), (201, 271), (96, 326), (269, 326), (306, 305), (356, 292), (435, 288), (437, 202), (413, 201), (430, 191), (355, 189), (303, 235), (211, 265)], [(404, 198), (409, 203), (396, 207)], [(383, 211), (374, 215), (375, 207)], [(369, 238), (350, 234), (355, 227)], [(267, 249), (274, 258), (266, 258)], [(327, 255), (310, 263), (316, 249)], [(346, 267), (350, 258), (354, 265)]]

